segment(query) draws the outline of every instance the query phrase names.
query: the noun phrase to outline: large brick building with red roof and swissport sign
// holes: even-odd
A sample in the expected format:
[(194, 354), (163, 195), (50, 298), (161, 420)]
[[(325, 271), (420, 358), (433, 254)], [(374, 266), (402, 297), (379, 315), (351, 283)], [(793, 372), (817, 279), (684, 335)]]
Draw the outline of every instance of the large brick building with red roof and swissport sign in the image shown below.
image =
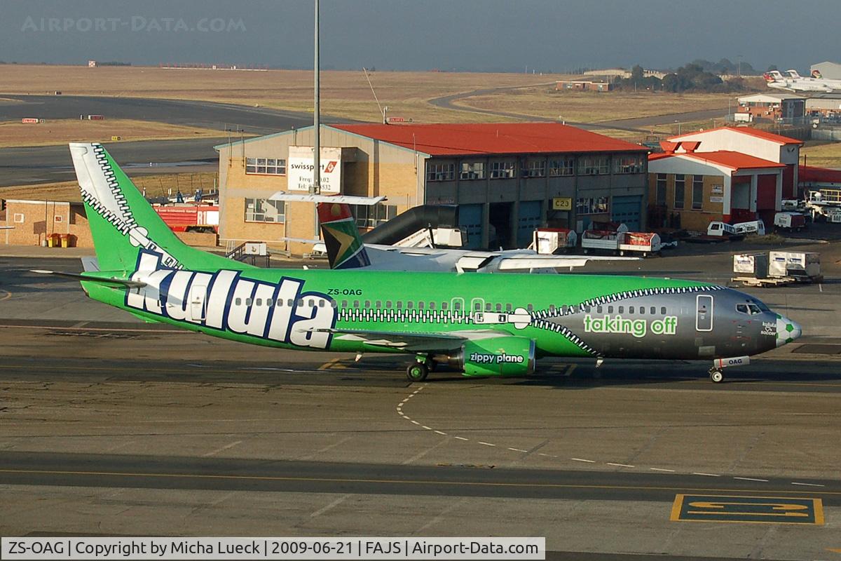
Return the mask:
[[(309, 251), (319, 238), (313, 205), (272, 195), (307, 192), (312, 132), (216, 146), (221, 241)], [(648, 149), (564, 124), (322, 125), (320, 144), (322, 193), (388, 198), (354, 209), (362, 228), (419, 204), (458, 205), (473, 248), (527, 246), (547, 222), (643, 227)]]

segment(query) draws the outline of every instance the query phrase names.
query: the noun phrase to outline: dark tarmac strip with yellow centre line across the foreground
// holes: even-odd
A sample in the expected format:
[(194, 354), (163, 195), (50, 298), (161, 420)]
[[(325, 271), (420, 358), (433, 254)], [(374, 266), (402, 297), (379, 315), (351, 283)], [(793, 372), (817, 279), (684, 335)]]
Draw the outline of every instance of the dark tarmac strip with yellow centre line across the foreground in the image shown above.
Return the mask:
[(841, 505), (841, 482), (792, 489), (783, 482), (711, 482), (698, 475), (406, 466), (72, 453), (3, 455), (0, 484), (671, 502), (678, 493), (814, 497)]

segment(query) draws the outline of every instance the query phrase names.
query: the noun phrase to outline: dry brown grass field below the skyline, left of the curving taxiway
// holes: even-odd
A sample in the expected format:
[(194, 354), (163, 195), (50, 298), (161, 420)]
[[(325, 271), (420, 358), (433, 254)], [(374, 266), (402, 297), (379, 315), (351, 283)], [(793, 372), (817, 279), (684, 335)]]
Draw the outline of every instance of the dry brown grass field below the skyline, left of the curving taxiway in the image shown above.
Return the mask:
[[(312, 111), (312, 71), (230, 71), (161, 69), (134, 66), (4, 65), (3, 93), (103, 95), (128, 98), (204, 100)], [(371, 82), (389, 114), (416, 121), (476, 121), (477, 114), (439, 109), (427, 103), (452, 93), (480, 88), (528, 86), (553, 82), (562, 75), (489, 74), (479, 72), (376, 71)], [(362, 70), (321, 72), (323, 114), (378, 121), (382, 119)], [(489, 116), (482, 120), (491, 120)], [(500, 119), (493, 119), (500, 120)]]

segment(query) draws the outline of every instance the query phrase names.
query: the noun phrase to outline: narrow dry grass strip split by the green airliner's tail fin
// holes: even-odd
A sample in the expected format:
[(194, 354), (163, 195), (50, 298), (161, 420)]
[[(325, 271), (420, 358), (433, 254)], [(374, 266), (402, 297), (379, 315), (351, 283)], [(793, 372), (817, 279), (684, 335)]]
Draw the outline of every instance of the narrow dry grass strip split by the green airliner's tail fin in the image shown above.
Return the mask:
[[(131, 181), (141, 191), (145, 190), (149, 197), (167, 196), (169, 190), (175, 194), (180, 189), (185, 197), (195, 193), (198, 188), (208, 193), (214, 187), (216, 173), (162, 173), (160, 175), (130, 174)], [(60, 183), (40, 183), (38, 185), (21, 185), (0, 188), (0, 198), (22, 198), (32, 200), (71, 201), (82, 200), (79, 194), (79, 184), (75, 181)]]

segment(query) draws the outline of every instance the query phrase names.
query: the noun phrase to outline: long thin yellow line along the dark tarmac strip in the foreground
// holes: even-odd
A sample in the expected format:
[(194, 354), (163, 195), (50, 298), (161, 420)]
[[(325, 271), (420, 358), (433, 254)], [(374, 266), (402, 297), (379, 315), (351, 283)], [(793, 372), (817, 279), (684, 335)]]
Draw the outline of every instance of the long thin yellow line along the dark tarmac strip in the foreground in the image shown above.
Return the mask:
[[(232, 479), (244, 481), (299, 481), (312, 483), (380, 483), (380, 484), (421, 484), (421, 485), (468, 485), (472, 487), (513, 487), (513, 488), (542, 488), (542, 489), (604, 489), (604, 490), (686, 490), (686, 491), (715, 491), (722, 489), (687, 488), (659, 485), (595, 485), (595, 484), (563, 484), (563, 483), (510, 483), (505, 481), (441, 481), (435, 479), (362, 479), (339, 477), (295, 477), (280, 475), (230, 475), (230, 474), (167, 474), (145, 472), (111, 472), (111, 471), (73, 471), (58, 469), (0, 469), (0, 474), (40, 474), (40, 475), (89, 475), (93, 477), (149, 477), (161, 479)], [(755, 489), (727, 489), (728, 493), (756, 493)], [(770, 493), (803, 495), (802, 490), (768, 490)], [(820, 495), (841, 495), (841, 491), (820, 491)], [(736, 495), (741, 496), (741, 495)], [(767, 497), (759, 497), (767, 498)], [(804, 497), (805, 499), (805, 497)], [(808, 500), (812, 500), (811, 498)]]

